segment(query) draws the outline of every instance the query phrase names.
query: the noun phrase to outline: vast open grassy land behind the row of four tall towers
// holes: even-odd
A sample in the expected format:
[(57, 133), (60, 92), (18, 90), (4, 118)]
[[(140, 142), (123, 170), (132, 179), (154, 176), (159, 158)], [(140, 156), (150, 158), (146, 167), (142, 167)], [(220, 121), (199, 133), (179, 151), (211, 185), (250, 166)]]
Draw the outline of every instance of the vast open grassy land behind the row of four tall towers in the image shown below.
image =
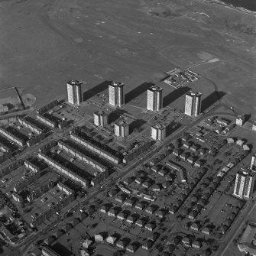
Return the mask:
[[(254, 117), (254, 35), (240, 29), (252, 19), (184, 3), (1, 2), (0, 89), (18, 86), (40, 105), (63, 95), (69, 79), (86, 82), (84, 90), (92, 95), (105, 89), (105, 80), (122, 81), (129, 93), (143, 83), (158, 83), (174, 66), (192, 66), (203, 76), (191, 85), (203, 99), (222, 92), (223, 102)], [(212, 58), (219, 61), (210, 63)], [(170, 94), (167, 105), (180, 105), (183, 95), (163, 86), (164, 97)], [(135, 96), (130, 93), (130, 103), (144, 105), (144, 92)]]

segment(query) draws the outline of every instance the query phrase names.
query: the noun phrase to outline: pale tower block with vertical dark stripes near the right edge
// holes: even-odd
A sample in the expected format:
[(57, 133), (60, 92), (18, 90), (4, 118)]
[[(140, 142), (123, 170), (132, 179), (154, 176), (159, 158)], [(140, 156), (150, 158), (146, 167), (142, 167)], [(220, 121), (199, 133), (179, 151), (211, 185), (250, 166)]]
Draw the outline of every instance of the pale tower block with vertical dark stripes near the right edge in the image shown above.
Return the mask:
[(235, 177), (234, 196), (241, 199), (250, 199), (254, 190), (256, 172), (253, 170), (245, 170), (241, 168)]

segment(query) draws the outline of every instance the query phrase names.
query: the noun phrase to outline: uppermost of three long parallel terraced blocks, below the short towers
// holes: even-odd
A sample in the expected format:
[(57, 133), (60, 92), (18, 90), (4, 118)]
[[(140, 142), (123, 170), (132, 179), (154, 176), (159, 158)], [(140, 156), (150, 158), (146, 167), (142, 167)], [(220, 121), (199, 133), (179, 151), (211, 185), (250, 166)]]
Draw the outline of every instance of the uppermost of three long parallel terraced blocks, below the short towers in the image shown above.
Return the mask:
[(115, 164), (119, 164), (121, 162), (120, 157), (115, 157), (114, 155), (112, 155), (109, 152), (105, 151), (101, 147), (98, 147), (95, 144), (92, 144), (91, 142), (87, 141), (86, 138), (80, 137), (78, 134), (74, 134), (72, 132), (70, 134), (70, 138), (72, 138), (73, 141), (76, 141), (79, 144), (83, 145), (83, 147), (88, 148), (90, 151), (93, 151), (96, 154), (99, 154), (100, 157), (104, 157), (105, 159), (110, 160), (110, 161), (112, 161)]

